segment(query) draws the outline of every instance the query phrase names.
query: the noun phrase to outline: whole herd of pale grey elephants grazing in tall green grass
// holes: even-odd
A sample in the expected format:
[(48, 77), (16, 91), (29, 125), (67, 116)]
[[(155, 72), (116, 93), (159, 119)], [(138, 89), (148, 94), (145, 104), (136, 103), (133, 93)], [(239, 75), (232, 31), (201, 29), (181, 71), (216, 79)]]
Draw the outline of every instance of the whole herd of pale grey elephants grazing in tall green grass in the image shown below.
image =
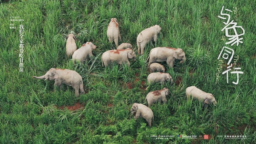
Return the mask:
[[(161, 31), (161, 27), (159, 25), (152, 26), (141, 31), (137, 37), (137, 46), (138, 46), (138, 54), (144, 53), (145, 46), (151, 42), (157, 41), (158, 34)], [(119, 25), (116, 18), (112, 18), (107, 28), (107, 36), (110, 42), (114, 41), (116, 45), (116, 50), (109, 50), (102, 54), (101, 61), (102, 66), (104, 64), (105, 67), (110, 64), (126, 64), (128, 67), (130, 66), (129, 59), (136, 59), (136, 54), (132, 49), (132, 45), (129, 43), (122, 43), (118, 46), (118, 40), (122, 42)], [(79, 60), (80, 63), (84, 63), (89, 57), (93, 57), (92, 50), (96, 48), (96, 46), (92, 42), (87, 42), (81, 46), (81, 48), (77, 49), (75, 43), (75, 35), (69, 34), (67, 35), (67, 43), (66, 43), (66, 56), (72, 57), (74, 62)], [(150, 69), (150, 74), (147, 77), (148, 85), (151, 83), (161, 83), (165, 84), (169, 82), (169, 84), (173, 84), (173, 79), (169, 73), (165, 73), (165, 68), (163, 65), (156, 62), (165, 61), (168, 67), (173, 67), (175, 60), (181, 60), (180, 63), (186, 61), (185, 53), (182, 49), (174, 49), (169, 47), (157, 47), (153, 48), (147, 59), (148, 68)], [(51, 68), (45, 75), (42, 76), (33, 76), (33, 78), (45, 79), (45, 80), (54, 80), (54, 86), (62, 89), (62, 84), (67, 84), (72, 86), (75, 89), (75, 96), (80, 93), (84, 93), (83, 89), (83, 80), (81, 75), (78, 72), (68, 70), (68, 69), (54, 69)], [(148, 87), (147, 87), (148, 89)], [(146, 90), (147, 90), (146, 89)], [(189, 99), (191, 96), (195, 99), (198, 99), (202, 102), (203, 107), (206, 108), (208, 104), (214, 103), (216, 106), (217, 102), (214, 96), (211, 93), (203, 92), (195, 86), (190, 86), (185, 90), (186, 96)], [(145, 98), (148, 102), (148, 107), (134, 103), (131, 108), (131, 113), (136, 113), (135, 119), (139, 117), (143, 117), (148, 125), (151, 127), (154, 120), (154, 115), (152, 110), (149, 108), (153, 103), (157, 103), (162, 101), (166, 103), (166, 95), (169, 94), (168, 88), (163, 88), (162, 90), (157, 90), (153, 92), (149, 92)]]

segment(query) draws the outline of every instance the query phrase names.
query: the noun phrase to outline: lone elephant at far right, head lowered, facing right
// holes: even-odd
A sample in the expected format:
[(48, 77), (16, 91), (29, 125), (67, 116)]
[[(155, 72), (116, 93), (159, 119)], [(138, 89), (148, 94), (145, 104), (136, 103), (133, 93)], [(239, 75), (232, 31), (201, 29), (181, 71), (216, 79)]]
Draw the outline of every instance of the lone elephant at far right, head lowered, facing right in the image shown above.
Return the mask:
[(189, 99), (190, 96), (192, 95), (193, 98), (202, 101), (203, 108), (207, 108), (208, 104), (214, 103), (214, 106), (216, 106), (217, 104), (217, 101), (215, 100), (211, 93), (205, 93), (204, 91), (198, 89), (195, 86), (187, 87), (185, 92), (187, 99)]

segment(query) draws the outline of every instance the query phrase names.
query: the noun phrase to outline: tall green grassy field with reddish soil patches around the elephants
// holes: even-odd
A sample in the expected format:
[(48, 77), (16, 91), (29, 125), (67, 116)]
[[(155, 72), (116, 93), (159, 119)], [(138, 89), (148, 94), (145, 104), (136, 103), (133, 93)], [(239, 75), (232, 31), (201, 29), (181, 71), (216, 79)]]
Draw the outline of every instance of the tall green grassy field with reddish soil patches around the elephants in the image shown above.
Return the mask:
[[(256, 142), (256, 8), (248, 1), (162, 1), (162, 0), (20, 0), (0, 5), (0, 143), (226, 143)], [(245, 30), (243, 43), (225, 44), (222, 6), (230, 21)], [(235, 8), (236, 7), (236, 11)], [(123, 42), (131, 43), (137, 54), (140, 31), (160, 25), (158, 41), (148, 44), (131, 66), (101, 66), (101, 54), (116, 49), (108, 42), (107, 26), (112, 17), (119, 22)], [(24, 21), (11, 21), (23, 19)], [(24, 25), (24, 72), (19, 72), (19, 25)], [(16, 27), (12, 29), (10, 27)], [(74, 66), (66, 58), (66, 35), (74, 33), (78, 48), (92, 42), (94, 60)], [(241, 30), (238, 30), (241, 33)], [(225, 41), (222, 40), (224, 36)], [(120, 44), (120, 43), (119, 43)], [(234, 50), (234, 66), (244, 74), (216, 73), (222, 47)], [(152, 48), (182, 48), (186, 63), (175, 63), (166, 72), (174, 85), (152, 85), (148, 91), (146, 59)], [(221, 72), (227, 60), (220, 58)], [(232, 62), (233, 63), (233, 60)], [(85, 94), (75, 97), (72, 87), (54, 88), (54, 81), (33, 79), (50, 68), (78, 72)], [(217, 107), (202, 110), (198, 101), (187, 101), (185, 89), (197, 86), (212, 93)], [(167, 104), (153, 104), (152, 128), (145, 119), (130, 114), (133, 103), (147, 105), (147, 93), (167, 87)], [(203, 139), (204, 135), (209, 139)], [(157, 139), (156, 135), (170, 135)], [(181, 136), (197, 135), (197, 139)], [(242, 135), (246, 138), (226, 138)], [(202, 137), (200, 137), (202, 136)]]

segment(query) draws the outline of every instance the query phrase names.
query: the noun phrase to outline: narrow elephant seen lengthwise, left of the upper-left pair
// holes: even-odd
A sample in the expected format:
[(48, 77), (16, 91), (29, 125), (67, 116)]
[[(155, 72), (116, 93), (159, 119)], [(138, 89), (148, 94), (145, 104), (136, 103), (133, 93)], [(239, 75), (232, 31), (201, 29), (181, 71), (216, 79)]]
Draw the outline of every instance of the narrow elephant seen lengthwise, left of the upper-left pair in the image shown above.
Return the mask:
[(70, 33), (66, 36), (67, 43), (66, 43), (66, 56), (69, 58), (73, 55), (74, 51), (77, 50), (76, 44), (75, 44), (75, 35)]

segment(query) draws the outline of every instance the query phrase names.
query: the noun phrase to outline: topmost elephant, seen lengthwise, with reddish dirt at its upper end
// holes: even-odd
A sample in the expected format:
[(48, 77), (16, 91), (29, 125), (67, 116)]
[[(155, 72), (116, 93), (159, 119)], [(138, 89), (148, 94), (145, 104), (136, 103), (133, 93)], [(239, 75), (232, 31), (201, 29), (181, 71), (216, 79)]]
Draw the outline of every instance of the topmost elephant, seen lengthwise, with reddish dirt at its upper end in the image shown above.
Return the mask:
[(114, 40), (116, 47), (118, 47), (118, 39), (122, 42), (119, 31), (119, 24), (116, 18), (111, 18), (110, 23), (108, 24), (107, 36), (109, 42), (112, 42)]

